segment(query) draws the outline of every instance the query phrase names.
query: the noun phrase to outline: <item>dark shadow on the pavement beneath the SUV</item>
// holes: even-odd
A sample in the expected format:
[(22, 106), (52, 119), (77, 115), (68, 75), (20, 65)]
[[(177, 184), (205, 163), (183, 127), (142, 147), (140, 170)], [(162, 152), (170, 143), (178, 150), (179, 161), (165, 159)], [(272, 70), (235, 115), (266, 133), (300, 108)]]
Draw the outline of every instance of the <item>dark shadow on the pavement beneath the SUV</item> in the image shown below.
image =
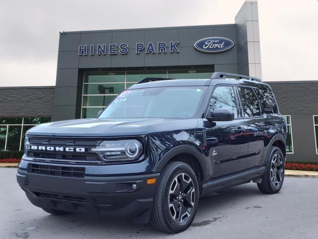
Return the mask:
[[(208, 221), (213, 222), (221, 214), (225, 216), (223, 211), (238, 207), (238, 205), (243, 203), (246, 204), (246, 200), (252, 201), (253, 197), (266, 197), (266, 195), (259, 192), (256, 184), (249, 183), (200, 198), (197, 216), (191, 227), (202, 226), (204, 224), (204, 222), (200, 222), (202, 218), (209, 218), (211, 220)], [(236, 210), (233, 211), (235, 213)], [(227, 217), (230, 216), (227, 215)], [(42, 228), (45, 228), (46, 233), (56, 233), (56, 228), (61, 228), (62, 226), (64, 233), (72, 233), (73, 231), (88, 233), (91, 230), (94, 231), (94, 234), (97, 232), (100, 234), (107, 233), (107, 238), (112, 238), (112, 235), (114, 237), (120, 235), (128, 238), (142, 237), (143, 235), (146, 236), (145, 232), (147, 232), (147, 237), (149, 235), (162, 236), (162, 233), (157, 232), (151, 224), (135, 224), (132, 220), (120, 218), (70, 214), (66, 216), (45, 215), (42, 217), (42, 221), (50, 225), (50, 227), (43, 225), (44, 227)]]

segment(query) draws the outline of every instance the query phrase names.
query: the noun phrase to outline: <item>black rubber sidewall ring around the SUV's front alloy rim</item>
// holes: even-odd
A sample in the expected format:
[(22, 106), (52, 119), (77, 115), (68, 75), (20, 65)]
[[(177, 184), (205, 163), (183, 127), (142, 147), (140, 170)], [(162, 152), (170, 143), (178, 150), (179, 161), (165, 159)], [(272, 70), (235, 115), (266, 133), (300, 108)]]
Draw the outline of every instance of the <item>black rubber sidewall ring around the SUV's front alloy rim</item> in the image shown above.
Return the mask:
[[(191, 177), (193, 185), (194, 185), (194, 189), (195, 189), (195, 202), (194, 202), (194, 206), (192, 209), (193, 211), (191, 212), (189, 219), (183, 223), (177, 223), (173, 220), (172, 216), (170, 215), (170, 211), (169, 211), (169, 207), (168, 207), (168, 197), (169, 197), (170, 185), (171, 185), (173, 179), (180, 173), (186, 173)], [(167, 222), (167, 225), (170, 225), (171, 229), (173, 231), (176, 231), (176, 232), (184, 231), (185, 229), (187, 229), (195, 217), (195, 214), (196, 214), (196, 211), (198, 208), (198, 201), (199, 201), (199, 186), (198, 186), (197, 177), (196, 177), (194, 171), (192, 170), (192, 168), (188, 164), (183, 163), (182, 165), (176, 167), (173, 170), (173, 172), (170, 174), (169, 179), (168, 179), (167, 184), (166, 184), (165, 191), (164, 191), (164, 196), (162, 198), (161, 203), (163, 205), (164, 219)]]

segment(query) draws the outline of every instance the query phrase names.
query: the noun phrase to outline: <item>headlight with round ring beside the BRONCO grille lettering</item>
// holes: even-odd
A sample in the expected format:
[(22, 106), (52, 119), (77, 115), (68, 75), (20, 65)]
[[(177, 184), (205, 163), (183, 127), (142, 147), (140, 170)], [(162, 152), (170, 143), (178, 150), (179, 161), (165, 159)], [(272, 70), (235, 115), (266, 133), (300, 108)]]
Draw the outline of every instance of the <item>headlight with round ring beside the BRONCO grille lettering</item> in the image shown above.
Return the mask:
[(105, 161), (135, 160), (143, 153), (143, 145), (136, 139), (102, 141), (90, 151), (96, 152)]

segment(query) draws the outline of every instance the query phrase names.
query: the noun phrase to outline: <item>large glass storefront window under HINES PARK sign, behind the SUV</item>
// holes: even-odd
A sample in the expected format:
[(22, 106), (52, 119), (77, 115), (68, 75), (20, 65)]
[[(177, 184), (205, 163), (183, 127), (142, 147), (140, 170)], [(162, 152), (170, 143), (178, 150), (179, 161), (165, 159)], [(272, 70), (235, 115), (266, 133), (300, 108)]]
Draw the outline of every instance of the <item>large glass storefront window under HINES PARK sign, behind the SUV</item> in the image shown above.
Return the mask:
[(142, 79), (209, 79), (212, 72), (213, 66), (209, 69), (190, 70), (84, 72), (81, 118), (96, 117), (97, 112), (105, 108), (114, 97)]

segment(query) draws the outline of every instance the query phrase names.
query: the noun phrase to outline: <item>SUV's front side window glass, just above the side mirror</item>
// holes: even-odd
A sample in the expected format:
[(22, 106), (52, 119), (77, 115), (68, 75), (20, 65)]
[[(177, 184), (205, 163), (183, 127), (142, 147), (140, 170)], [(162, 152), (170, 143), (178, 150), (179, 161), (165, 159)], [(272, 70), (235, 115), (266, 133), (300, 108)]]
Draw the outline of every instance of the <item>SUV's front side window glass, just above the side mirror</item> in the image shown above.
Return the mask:
[(215, 88), (210, 100), (211, 113), (217, 108), (227, 108), (233, 111), (234, 118), (238, 118), (238, 107), (232, 86), (218, 86)]

